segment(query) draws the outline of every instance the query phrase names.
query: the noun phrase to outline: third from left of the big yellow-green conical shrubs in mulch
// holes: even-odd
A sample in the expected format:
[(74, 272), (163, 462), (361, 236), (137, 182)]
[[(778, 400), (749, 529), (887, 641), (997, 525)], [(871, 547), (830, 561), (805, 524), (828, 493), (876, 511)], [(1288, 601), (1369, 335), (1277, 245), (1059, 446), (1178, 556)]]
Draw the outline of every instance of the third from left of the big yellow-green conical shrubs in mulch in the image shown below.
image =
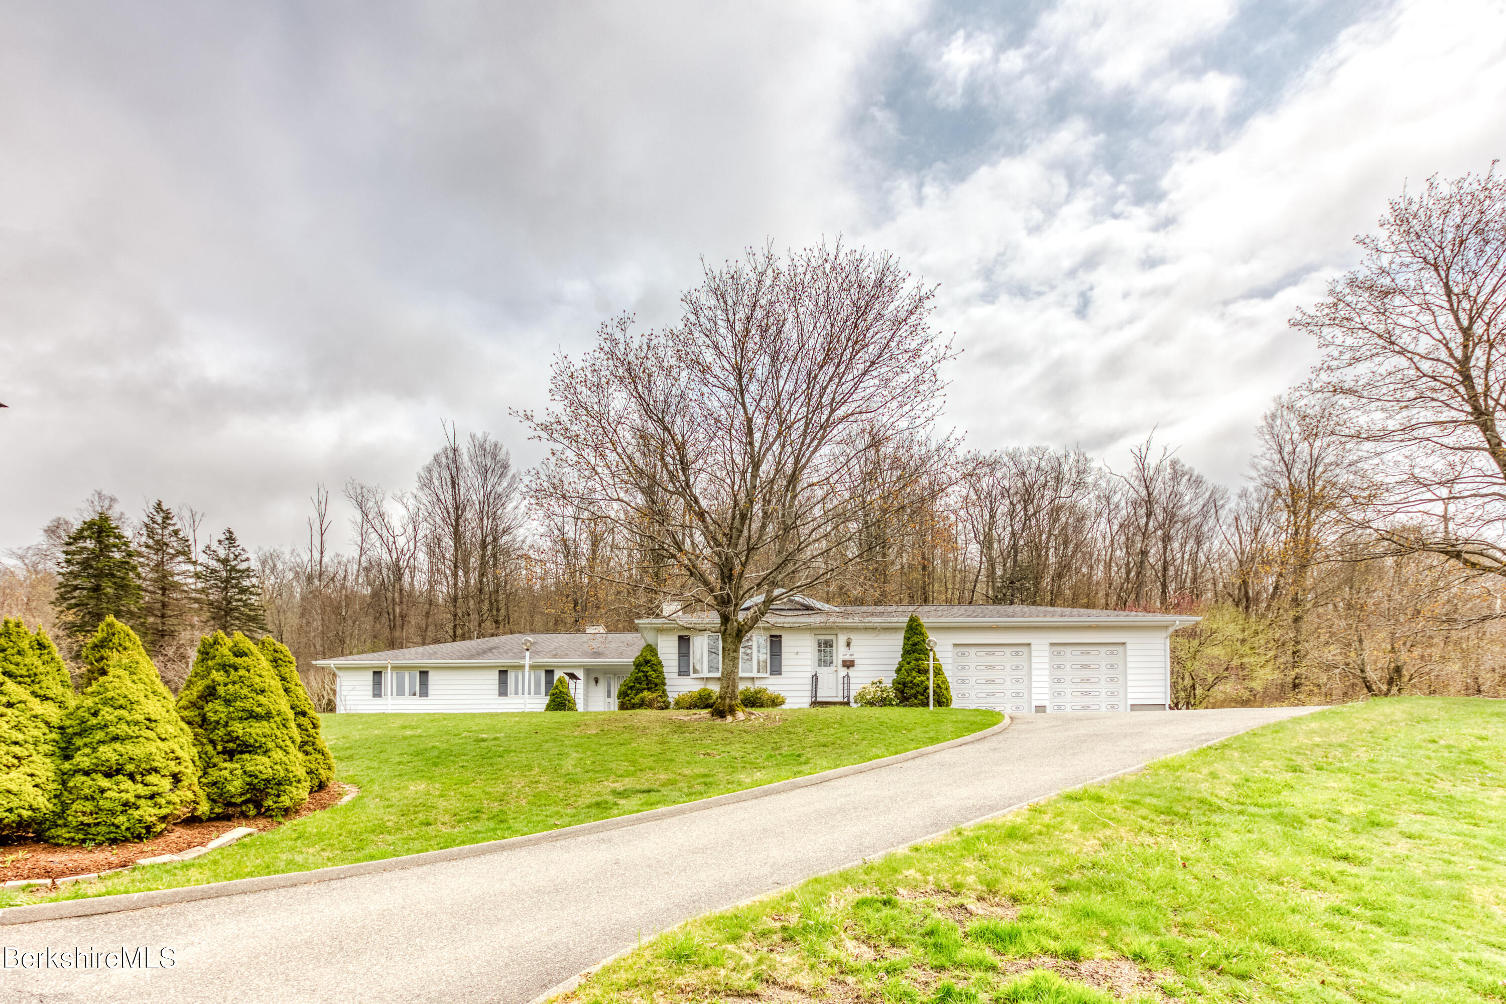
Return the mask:
[(309, 798), (298, 729), (277, 671), (245, 635), (199, 644), (178, 713), (199, 751), (211, 816), (280, 816)]

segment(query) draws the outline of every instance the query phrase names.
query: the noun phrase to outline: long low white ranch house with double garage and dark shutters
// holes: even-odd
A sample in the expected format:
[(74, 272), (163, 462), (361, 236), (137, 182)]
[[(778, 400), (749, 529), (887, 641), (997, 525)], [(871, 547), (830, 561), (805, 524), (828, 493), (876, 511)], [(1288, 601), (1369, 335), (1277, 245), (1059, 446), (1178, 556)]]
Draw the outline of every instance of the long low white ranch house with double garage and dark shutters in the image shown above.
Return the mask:
[[(1197, 620), (1062, 607), (831, 607), (791, 596), (736, 653), (739, 683), (783, 694), (786, 707), (846, 703), (864, 683), (893, 680), (910, 614), (935, 640), (953, 706), (1015, 715), (1166, 710), (1172, 631)], [(715, 688), (721, 638), (711, 616), (648, 617), (637, 628), (503, 635), (316, 665), (337, 676), (337, 712), (544, 710), (559, 676), (580, 710), (616, 710), (645, 643), (664, 661), (670, 698)]]

